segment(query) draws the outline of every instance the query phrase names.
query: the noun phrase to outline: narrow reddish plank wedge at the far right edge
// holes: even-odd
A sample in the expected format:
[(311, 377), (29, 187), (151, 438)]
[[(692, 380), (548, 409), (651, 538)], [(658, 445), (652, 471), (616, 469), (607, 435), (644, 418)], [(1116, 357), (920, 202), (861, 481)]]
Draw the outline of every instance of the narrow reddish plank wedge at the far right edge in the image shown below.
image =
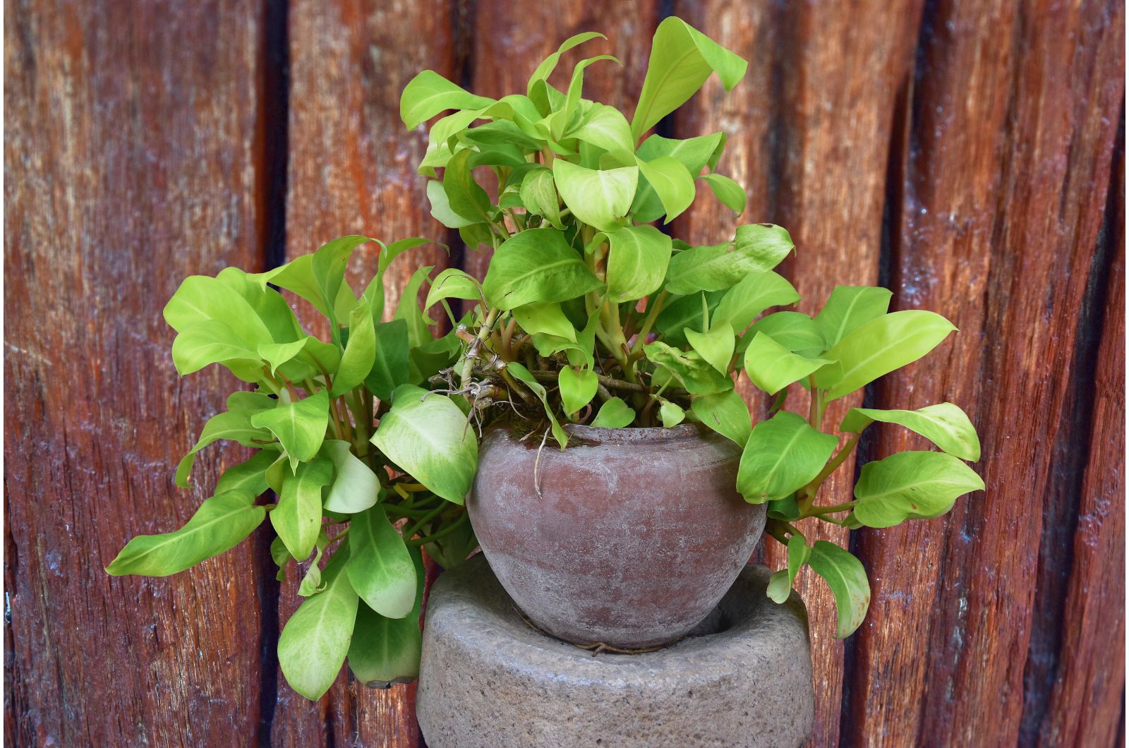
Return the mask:
[[(1122, 124), (1122, 128), (1124, 125)], [(1126, 278), (1124, 133), (1113, 167), (1117, 189), (1105, 231), (1114, 256), (1108, 279), (1101, 347), (1092, 380), (1092, 438), (1082, 482), (1069, 592), (1061, 610), (1059, 672), (1049, 708), (1038, 716), (1044, 746), (1113, 746), (1121, 724), (1126, 681), (1124, 424)], [(1065, 559), (1064, 559), (1065, 560)]]

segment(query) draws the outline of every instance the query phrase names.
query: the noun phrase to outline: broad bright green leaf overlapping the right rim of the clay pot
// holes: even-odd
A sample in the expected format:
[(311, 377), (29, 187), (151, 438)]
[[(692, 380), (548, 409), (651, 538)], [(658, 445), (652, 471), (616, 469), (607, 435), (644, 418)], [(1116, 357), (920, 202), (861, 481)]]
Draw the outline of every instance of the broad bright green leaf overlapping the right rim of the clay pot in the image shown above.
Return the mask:
[(753, 427), (737, 468), (737, 490), (751, 504), (784, 498), (815, 478), (838, 444), (831, 434), (781, 410)]

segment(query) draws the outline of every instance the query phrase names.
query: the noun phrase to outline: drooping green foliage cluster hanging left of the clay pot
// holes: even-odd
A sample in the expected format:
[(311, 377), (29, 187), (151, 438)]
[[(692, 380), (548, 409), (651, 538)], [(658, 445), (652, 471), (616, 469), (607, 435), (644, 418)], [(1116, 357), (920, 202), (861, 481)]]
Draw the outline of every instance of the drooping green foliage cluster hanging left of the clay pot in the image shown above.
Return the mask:
[[(358, 297), (344, 280), (345, 264), (370, 241), (379, 247), (379, 267)], [(106, 571), (174, 574), (233, 548), (270, 517), (280, 580), (291, 562), (313, 555), (298, 588), (305, 600), (278, 643), (283, 676), (312, 699), (329, 689), (347, 656), (369, 685), (414, 678), (420, 548), (453, 566), (478, 545), (461, 506), (476, 449), (464, 412), (441, 395), (390, 412), (394, 390), (422, 393), (413, 384), (426, 383), (460, 351), (454, 333), (432, 339), (417, 301), (430, 268), (415, 272), (392, 320), (382, 321), (385, 270), (422, 243), (345, 236), (268, 272), (227, 268), (216, 277), (193, 276), (164, 312), (177, 333), (173, 360), (181, 374), (219, 364), (251, 385), (233, 392), (227, 410), (208, 420), (181, 460), (176, 484), (190, 486), (196, 454), (217, 441), (254, 453), (222, 471), (213, 495), (183, 528), (134, 538)], [(304, 330), (275, 287), (324, 315), (330, 339)], [(462, 452), (467, 462), (460, 468), (449, 461), (441, 475), (421, 475), (421, 482), (387, 458), (377, 427), (385, 435), (438, 434), (436, 445)], [(332, 556), (323, 564), (327, 550)]]

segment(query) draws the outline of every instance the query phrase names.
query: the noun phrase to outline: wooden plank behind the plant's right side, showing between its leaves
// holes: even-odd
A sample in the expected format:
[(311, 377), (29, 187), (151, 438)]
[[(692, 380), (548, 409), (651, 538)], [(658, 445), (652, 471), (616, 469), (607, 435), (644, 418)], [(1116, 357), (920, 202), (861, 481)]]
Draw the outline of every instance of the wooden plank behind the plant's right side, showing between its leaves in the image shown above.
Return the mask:
[[(746, 80), (728, 97), (711, 81), (677, 122), (686, 137), (724, 129), (730, 134), (719, 171), (750, 189), (741, 223), (785, 226), (797, 246), (786, 262), (812, 314), (837, 285), (878, 281), (887, 150), (900, 90), (912, 66), (920, 16), (916, 0), (860, 2), (850, 8), (808, 5), (676, 5), (676, 11), (750, 60)], [(724, 208), (694, 209), (685, 221), (693, 242), (719, 241), (736, 225)], [(789, 408), (806, 411), (798, 388)], [(828, 423), (837, 423), (860, 395), (835, 401)], [(821, 502), (848, 501), (852, 461), (835, 473)], [(808, 539), (847, 542), (846, 531), (807, 521)], [(784, 557), (765, 545), (768, 563)], [(839, 743), (843, 644), (835, 641), (833, 598), (805, 569), (797, 589), (812, 623), (816, 723), (814, 745)]]

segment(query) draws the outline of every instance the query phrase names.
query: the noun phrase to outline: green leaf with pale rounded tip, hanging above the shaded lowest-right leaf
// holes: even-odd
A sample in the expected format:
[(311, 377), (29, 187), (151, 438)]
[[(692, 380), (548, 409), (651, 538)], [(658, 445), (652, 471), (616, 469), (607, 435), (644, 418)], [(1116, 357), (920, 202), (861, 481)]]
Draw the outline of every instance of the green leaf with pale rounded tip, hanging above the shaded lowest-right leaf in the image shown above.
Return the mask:
[(379, 504), (349, 523), (352, 550), (345, 573), (369, 608), (387, 618), (403, 618), (415, 603), (415, 565), (404, 539)]

